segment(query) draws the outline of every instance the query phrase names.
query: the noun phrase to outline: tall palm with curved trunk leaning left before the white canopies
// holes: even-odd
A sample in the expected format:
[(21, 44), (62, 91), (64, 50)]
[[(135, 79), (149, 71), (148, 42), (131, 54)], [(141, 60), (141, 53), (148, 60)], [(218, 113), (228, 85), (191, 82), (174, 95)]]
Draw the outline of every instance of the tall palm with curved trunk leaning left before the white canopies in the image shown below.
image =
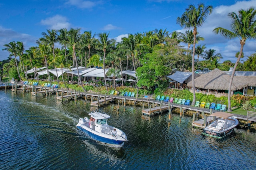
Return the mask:
[(73, 57), (74, 57), (74, 61), (76, 62), (76, 71), (78, 73), (79, 83), (82, 86), (82, 89), (86, 92), (86, 90), (84, 89), (80, 74), (79, 74), (78, 63), (77, 63), (77, 59), (76, 59), (76, 47), (78, 46), (78, 43), (80, 42), (80, 36), (81, 36), (80, 30), (81, 30), (81, 28), (71, 28), (68, 31), (68, 39), (69, 39), (69, 44), (73, 50)]

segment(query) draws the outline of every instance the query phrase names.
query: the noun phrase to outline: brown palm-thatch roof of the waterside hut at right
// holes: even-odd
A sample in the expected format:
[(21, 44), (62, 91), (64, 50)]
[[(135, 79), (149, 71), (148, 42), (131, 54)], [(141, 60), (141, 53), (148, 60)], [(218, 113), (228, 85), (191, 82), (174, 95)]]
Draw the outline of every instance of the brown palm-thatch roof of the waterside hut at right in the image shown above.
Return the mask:
[[(219, 69), (214, 69), (209, 73), (195, 78), (195, 87), (201, 89), (228, 90), (230, 75)], [(187, 83), (192, 87), (192, 79)], [(238, 90), (247, 86), (256, 86), (256, 76), (234, 76), (231, 89)]]

